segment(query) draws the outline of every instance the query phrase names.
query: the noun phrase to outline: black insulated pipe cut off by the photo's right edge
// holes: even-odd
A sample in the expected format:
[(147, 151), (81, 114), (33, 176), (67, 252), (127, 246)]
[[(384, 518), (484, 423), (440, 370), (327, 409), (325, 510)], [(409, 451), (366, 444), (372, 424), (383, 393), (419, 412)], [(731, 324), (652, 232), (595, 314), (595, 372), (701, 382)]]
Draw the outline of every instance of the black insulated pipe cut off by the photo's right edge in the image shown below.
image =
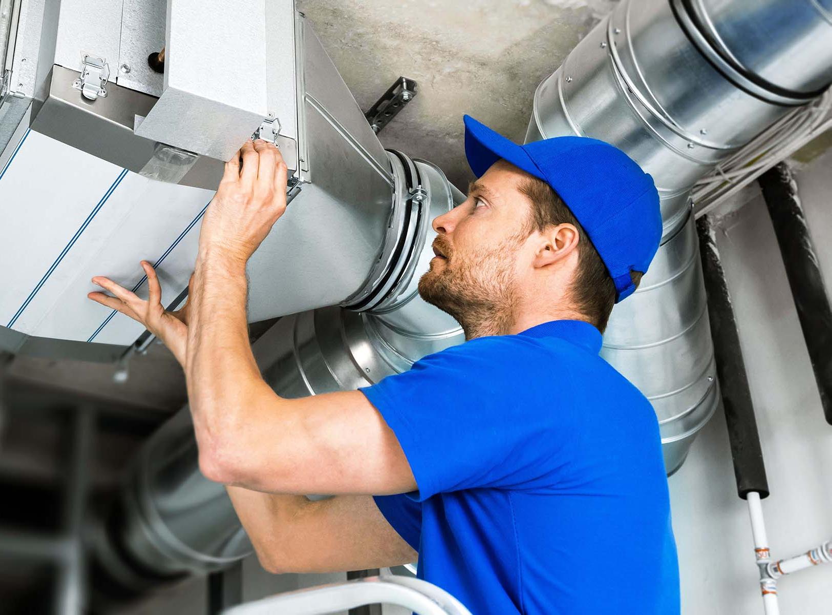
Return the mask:
[(832, 307), (800, 205), (797, 183), (786, 163), (766, 171), (757, 181), (769, 208), (786, 277), (795, 298), (820, 404), (826, 423), (832, 425)]

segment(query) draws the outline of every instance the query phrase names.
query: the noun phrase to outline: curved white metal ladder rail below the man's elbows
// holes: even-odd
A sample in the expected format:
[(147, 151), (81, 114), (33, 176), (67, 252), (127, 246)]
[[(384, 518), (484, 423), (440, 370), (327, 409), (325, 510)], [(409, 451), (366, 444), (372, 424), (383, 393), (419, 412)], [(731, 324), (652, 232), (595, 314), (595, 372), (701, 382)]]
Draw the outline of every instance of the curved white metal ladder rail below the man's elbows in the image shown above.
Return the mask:
[(417, 615), (471, 615), (462, 602), (433, 583), (393, 575), (280, 593), (240, 604), (224, 615), (324, 615), (379, 603), (409, 608)]

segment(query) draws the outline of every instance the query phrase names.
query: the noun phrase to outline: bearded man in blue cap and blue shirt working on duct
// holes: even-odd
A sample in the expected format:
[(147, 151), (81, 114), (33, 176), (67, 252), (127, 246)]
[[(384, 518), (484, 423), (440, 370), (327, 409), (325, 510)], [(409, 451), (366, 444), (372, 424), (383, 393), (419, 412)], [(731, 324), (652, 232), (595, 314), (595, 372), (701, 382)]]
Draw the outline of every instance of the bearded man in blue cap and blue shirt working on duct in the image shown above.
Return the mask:
[(676, 614), (656, 415), (598, 356), (659, 245), (652, 178), (593, 139), (518, 146), (468, 116), (465, 128), (478, 180), (433, 220), (419, 293), (468, 341), (406, 373), (303, 399), (260, 377), (245, 264), (286, 208), (286, 165), (263, 141), (225, 165), (185, 310), (165, 312), (146, 262), (148, 301), (107, 278), (92, 281), (113, 296), (90, 298), (182, 364), (201, 471), (229, 486), (271, 572), (418, 555), (418, 576), (475, 615)]

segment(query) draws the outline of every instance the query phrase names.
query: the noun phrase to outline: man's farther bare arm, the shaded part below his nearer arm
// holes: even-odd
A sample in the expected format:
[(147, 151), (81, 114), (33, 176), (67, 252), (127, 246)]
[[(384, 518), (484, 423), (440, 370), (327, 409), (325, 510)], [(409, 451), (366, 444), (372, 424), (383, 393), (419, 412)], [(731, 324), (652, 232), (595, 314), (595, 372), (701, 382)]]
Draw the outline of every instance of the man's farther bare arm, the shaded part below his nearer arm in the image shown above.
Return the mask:
[(239, 487), (229, 487), (228, 494), (269, 572), (341, 572), (416, 561), (371, 496), (311, 502)]

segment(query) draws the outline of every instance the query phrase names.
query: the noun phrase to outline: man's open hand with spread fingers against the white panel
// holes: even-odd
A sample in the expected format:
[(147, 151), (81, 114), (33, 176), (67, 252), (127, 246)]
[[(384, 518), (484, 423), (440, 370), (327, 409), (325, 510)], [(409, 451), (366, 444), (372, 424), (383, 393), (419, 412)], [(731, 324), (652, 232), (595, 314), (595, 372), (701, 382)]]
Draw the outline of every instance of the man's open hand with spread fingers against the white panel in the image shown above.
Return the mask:
[[(168, 312), (161, 305), (161, 286), (159, 278), (156, 276), (156, 270), (151, 263), (141, 261), (141, 268), (144, 269), (147, 276), (147, 290), (148, 298), (145, 301), (136, 296), (120, 284), (116, 284), (110, 278), (103, 276), (96, 276), (92, 278), (92, 283), (97, 284), (101, 288), (113, 294), (111, 297), (106, 293), (89, 293), (88, 298), (92, 301), (101, 303), (107, 308), (112, 308), (116, 312), (121, 312), (129, 316), (137, 323), (141, 323), (144, 327), (153, 333), (156, 338), (161, 339), (163, 343), (171, 350), (176, 360), (184, 367), (186, 357), (186, 346), (188, 338), (188, 307), (190, 302), (186, 303), (181, 310), (176, 312)], [(191, 276), (191, 283), (193, 283), (193, 276)], [(188, 284), (189, 288), (191, 283)]]

